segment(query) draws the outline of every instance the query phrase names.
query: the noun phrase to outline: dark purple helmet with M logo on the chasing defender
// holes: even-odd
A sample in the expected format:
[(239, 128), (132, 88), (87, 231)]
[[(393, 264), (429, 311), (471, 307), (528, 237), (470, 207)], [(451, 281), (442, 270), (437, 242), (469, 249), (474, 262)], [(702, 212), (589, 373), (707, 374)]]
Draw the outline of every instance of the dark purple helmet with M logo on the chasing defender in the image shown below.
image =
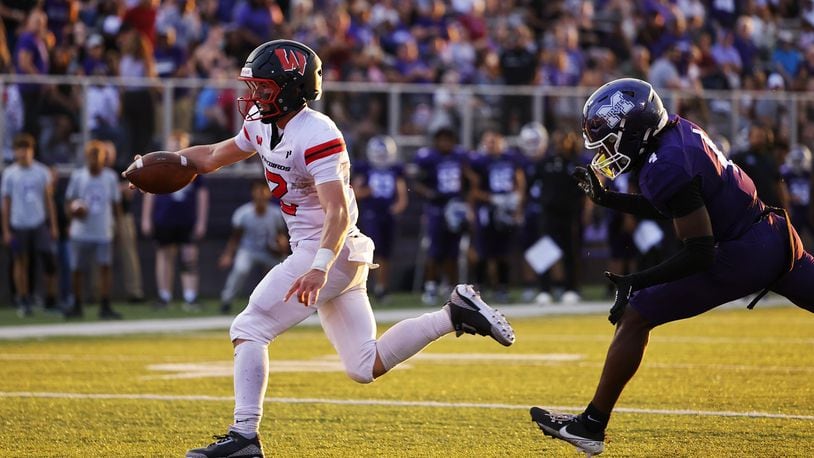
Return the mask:
[(585, 147), (599, 149), (591, 161), (596, 172), (614, 179), (647, 150), (667, 125), (667, 110), (653, 86), (622, 78), (597, 89), (582, 109)]

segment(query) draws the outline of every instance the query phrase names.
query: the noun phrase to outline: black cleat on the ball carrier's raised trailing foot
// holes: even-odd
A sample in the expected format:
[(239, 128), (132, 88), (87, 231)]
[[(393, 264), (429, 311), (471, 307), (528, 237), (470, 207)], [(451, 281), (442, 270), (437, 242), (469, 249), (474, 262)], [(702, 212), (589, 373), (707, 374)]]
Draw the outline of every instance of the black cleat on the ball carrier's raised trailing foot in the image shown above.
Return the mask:
[(446, 304), (455, 335), (463, 333), (490, 336), (501, 345), (514, 343), (514, 329), (506, 318), (481, 299), (472, 285), (458, 285)]

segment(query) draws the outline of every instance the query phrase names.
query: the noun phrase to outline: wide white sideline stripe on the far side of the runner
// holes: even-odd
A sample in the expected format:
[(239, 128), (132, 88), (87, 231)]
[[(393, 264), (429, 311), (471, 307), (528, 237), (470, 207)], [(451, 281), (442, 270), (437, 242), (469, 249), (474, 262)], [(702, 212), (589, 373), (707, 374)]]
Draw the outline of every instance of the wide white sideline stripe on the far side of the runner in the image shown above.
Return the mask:
[[(789, 302), (781, 297), (761, 301), (758, 307), (788, 306)], [(552, 315), (603, 315), (611, 307), (610, 302), (582, 302), (579, 304), (513, 304), (496, 305), (508, 318), (527, 318)], [(745, 308), (743, 302), (732, 302), (719, 308)], [(412, 318), (433, 308), (410, 308), (373, 311), (378, 323), (395, 323)], [(229, 329), (234, 317), (211, 316), (190, 318), (166, 318), (162, 320), (103, 321), (92, 323), (56, 323), (40, 325), (0, 326), (0, 340), (38, 339), (61, 336), (109, 336), (122, 334), (177, 333), (189, 331), (208, 331)], [(316, 315), (302, 322), (306, 326), (319, 326)]]

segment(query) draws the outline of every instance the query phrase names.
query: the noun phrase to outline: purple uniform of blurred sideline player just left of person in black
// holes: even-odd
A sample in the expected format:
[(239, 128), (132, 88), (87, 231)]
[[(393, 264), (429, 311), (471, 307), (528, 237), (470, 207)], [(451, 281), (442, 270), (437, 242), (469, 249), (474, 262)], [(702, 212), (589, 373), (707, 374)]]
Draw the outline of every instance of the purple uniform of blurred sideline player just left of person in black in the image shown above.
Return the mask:
[[(517, 187), (515, 172), (521, 164), (506, 151), (499, 156), (479, 155), (472, 160), (472, 170), (480, 177), (482, 191), (489, 194), (512, 194)], [(481, 259), (507, 256), (506, 242), (514, 228), (514, 209), (500, 208), (491, 203), (475, 207), (475, 250)]]

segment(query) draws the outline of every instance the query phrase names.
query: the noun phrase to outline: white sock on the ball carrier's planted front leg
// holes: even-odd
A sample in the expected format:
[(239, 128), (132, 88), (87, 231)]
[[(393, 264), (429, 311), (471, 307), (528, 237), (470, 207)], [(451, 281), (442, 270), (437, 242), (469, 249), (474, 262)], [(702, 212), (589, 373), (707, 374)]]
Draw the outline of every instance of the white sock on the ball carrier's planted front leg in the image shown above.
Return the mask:
[(243, 342), (235, 347), (235, 422), (230, 430), (241, 436), (257, 435), (268, 385), (268, 345)]

